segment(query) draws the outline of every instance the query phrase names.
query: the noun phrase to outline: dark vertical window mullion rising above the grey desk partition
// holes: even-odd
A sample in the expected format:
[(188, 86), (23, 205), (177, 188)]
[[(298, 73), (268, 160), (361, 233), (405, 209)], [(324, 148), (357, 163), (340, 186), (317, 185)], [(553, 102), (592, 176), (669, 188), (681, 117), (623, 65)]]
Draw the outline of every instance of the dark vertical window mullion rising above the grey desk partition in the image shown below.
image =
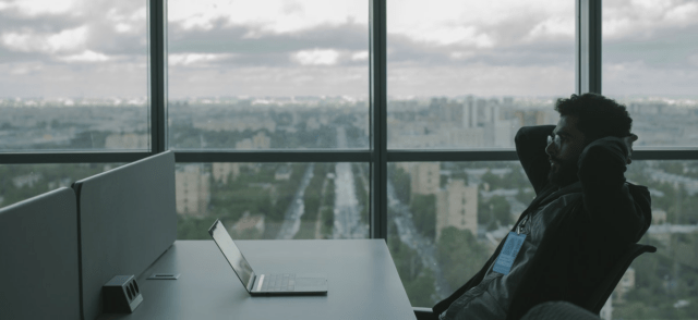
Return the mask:
[(151, 152), (167, 149), (167, 0), (148, 0)]

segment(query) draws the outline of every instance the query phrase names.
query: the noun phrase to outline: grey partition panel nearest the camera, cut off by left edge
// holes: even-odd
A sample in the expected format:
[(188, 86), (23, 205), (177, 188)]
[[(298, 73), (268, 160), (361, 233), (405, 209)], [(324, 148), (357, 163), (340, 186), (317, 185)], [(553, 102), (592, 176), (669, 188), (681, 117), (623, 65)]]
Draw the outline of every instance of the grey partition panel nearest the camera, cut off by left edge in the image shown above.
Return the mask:
[(75, 194), (0, 209), (0, 319), (80, 319)]

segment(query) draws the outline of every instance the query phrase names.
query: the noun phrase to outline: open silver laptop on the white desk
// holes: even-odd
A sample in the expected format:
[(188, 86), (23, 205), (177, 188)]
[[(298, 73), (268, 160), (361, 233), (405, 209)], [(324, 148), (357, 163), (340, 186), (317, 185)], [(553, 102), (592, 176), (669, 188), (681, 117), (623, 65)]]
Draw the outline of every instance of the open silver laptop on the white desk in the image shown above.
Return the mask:
[(220, 220), (208, 229), (208, 234), (232, 267), (242, 286), (252, 296), (264, 295), (323, 295), (327, 294), (327, 279), (317, 274), (257, 274), (244, 259)]

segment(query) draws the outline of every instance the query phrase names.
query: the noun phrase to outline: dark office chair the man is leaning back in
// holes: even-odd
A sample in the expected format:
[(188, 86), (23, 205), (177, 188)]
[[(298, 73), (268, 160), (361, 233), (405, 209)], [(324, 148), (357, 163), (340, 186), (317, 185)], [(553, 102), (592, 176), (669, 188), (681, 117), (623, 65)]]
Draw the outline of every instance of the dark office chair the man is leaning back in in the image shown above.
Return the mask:
[[(618, 284), (625, 271), (630, 267), (633, 260), (645, 253), (655, 253), (657, 248), (648, 245), (633, 244), (625, 250), (625, 254), (618, 259), (618, 261), (610, 270), (609, 275), (601, 281), (601, 285), (593, 292), (587, 304), (581, 306), (595, 315), (599, 315), (601, 308), (606, 303), (615, 286)], [(414, 316), (417, 320), (436, 320), (438, 315), (434, 315), (432, 308), (418, 308), (413, 307)]]

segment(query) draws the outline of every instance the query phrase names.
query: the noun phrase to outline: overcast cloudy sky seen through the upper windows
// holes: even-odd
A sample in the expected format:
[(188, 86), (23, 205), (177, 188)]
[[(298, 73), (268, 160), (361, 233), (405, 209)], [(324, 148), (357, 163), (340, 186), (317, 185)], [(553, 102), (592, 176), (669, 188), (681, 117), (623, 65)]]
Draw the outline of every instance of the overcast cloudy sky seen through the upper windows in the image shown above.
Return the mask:
[[(574, 2), (388, 0), (388, 94), (568, 96)], [(0, 0), (0, 97), (147, 96), (145, 0)], [(696, 96), (698, 1), (604, 0), (603, 90)], [(369, 2), (170, 0), (170, 98), (365, 97)]]

